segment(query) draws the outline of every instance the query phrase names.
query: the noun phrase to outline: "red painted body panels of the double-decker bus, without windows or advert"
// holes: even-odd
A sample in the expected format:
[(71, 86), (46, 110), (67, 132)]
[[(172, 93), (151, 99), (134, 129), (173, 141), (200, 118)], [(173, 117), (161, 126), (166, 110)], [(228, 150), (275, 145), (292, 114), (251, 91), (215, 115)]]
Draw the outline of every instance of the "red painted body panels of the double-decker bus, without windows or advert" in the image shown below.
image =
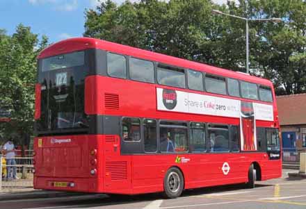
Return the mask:
[[(101, 49), (269, 86), (273, 91), (273, 103), (256, 102), (272, 105), (274, 119), (273, 122), (257, 120), (256, 126), (279, 128), (273, 84), (263, 78), (92, 38), (73, 38), (58, 42), (42, 51), (38, 58), (42, 59), (84, 49)], [(165, 86), (109, 76), (87, 76), (85, 80), (85, 112), (88, 115), (240, 124), (238, 118), (157, 110), (156, 87)], [(209, 92), (197, 92), (169, 86), (166, 88), (253, 102), (250, 99)], [(36, 95), (36, 99), (40, 99), (38, 90), (36, 90)], [(118, 100), (115, 101), (115, 104), (107, 103), (108, 95), (117, 96), (115, 98)], [(38, 101), (36, 105), (37, 103)], [(109, 105), (115, 107), (110, 108)], [(36, 106), (36, 111), (35, 118), (40, 117), (39, 106)], [(249, 122), (245, 120), (243, 123)], [(247, 135), (250, 134), (246, 133), (245, 136)], [(120, 135), (108, 134), (41, 135), (35, 137), (34, 187), (44, 190), (117, 194), (162, 192), (163, 178), (170, 167), (178, 167), (182, 171), (185, 182), (184, 189), (248, 182), (248, 168), (252, 163), (259, 167), (260, 176), (258, 178), (261, 181), (278, 178), (282, 174), (281, 159), (269, 160), (268, 154), (265, 152), (122, 154), (120, 153), (120, 137)], [(186, 163), (176, 162), (177, 156), (189, 160)], [(228, 162), (230, 165), (230, 172), (227, 175), (222, 171), (224, 162)], [(92, 171), (94, 174), (90, 173)], [(61, 185), (61, 183), (63, 184)]]

